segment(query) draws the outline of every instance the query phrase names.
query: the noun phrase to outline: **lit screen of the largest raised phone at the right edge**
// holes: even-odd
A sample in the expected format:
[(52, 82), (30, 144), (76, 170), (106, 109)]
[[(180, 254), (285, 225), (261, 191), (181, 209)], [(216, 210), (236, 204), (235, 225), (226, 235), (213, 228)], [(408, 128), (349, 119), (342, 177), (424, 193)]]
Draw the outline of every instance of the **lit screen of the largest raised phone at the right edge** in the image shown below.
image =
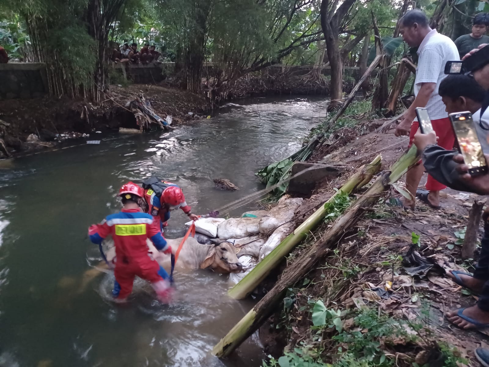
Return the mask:
[(477, 132), (475, 131), (474, 121), (469, 112), (450, 114), (453, 130), (457, 136), (460, 153), (464, 156), (465, 164), (469, 169), (485, 167), (486, 159), (481, 148)]

